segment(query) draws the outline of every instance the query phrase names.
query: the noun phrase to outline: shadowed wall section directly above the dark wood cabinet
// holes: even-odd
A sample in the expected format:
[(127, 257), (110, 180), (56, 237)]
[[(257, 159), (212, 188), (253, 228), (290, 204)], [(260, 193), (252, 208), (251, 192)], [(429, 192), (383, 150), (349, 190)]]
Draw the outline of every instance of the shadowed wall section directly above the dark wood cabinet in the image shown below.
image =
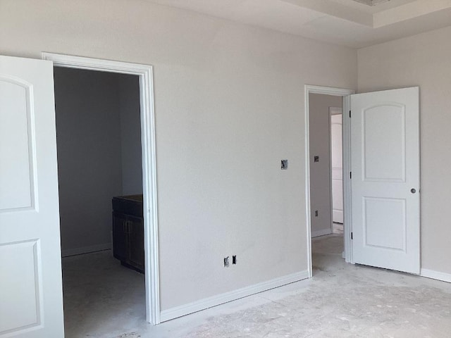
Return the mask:
[(142, 194), (140, 79), (118, 75), (122, 194)]

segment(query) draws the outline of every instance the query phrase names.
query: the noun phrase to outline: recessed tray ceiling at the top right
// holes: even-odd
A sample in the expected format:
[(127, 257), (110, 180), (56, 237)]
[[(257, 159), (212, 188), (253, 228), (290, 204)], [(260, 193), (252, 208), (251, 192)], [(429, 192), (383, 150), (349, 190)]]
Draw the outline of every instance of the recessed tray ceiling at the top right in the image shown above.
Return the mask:
[(354, 48), (451, 25), (451, 0), (147, 0)]

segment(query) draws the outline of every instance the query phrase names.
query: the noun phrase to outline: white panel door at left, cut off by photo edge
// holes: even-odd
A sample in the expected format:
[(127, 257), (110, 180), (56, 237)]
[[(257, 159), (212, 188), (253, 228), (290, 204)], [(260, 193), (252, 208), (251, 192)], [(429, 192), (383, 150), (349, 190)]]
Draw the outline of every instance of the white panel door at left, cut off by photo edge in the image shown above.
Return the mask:
[(0, 56), (0, 337), (64, 337), (53, 65)]

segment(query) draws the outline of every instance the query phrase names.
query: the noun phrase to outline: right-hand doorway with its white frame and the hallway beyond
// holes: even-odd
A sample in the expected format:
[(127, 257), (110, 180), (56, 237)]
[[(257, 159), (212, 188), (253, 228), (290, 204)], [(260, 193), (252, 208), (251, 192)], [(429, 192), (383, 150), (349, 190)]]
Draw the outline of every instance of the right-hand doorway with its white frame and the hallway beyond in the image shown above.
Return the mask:
[[(305, 87), (306, 115), (306, 214), (309, 277), (313, 275), (315, 257), (333, 254), (350, 262), (350, 223), (347, 172), (347, 110), (350, 89)], [(340, 123), (338, 123), (340, 122)], [(340, 142), (341, 141), (341, 142)], [(342, 153), (340, 154), (340, 151)], [(341, 199), (340, 199), (341, 197)], [(319, 254), (318, 254), (319, 253)]]

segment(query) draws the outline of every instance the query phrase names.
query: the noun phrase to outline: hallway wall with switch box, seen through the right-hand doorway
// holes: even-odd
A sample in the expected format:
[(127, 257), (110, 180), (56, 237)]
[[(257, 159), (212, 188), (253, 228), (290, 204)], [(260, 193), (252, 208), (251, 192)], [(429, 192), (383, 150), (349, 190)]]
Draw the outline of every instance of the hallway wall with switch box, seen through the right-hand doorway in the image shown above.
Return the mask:
[[(310, 206), (311, 236), (330, 234), (332, 206), (330, 205), (330, 115), (329, 107), (341, 107), (341, 96), (309, 94), (310, 133)], [(319, 156), (319, 162), (314, 162)], [(315, 211), (318, 216), (315, 216)]]

